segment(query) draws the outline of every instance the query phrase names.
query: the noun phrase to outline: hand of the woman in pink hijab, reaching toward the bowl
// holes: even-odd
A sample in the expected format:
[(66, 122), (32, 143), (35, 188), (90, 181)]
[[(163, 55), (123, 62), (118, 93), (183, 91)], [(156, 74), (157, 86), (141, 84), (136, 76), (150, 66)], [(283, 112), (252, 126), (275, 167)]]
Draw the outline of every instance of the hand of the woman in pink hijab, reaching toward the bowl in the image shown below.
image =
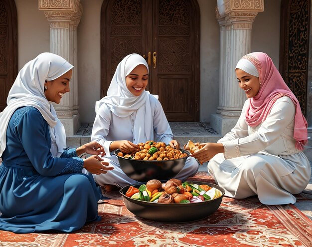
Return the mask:
[(203, 163), (211, 160), (218, 153), (224, 153), (223, 144), (207, 142), (199, 144), (199, 150), (194, 152), (192, 156)]

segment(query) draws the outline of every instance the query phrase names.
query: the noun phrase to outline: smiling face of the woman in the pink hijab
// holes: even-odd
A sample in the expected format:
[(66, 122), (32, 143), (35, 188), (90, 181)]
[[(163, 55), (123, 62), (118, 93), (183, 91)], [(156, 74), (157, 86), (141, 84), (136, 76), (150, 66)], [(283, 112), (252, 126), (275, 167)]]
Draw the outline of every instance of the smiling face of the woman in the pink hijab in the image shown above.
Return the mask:
[(246, 93), (247, 98), (255, 97), (260, 90), (259, 77), (248, 74), (244, 70), (236, 69), (239, 87)]

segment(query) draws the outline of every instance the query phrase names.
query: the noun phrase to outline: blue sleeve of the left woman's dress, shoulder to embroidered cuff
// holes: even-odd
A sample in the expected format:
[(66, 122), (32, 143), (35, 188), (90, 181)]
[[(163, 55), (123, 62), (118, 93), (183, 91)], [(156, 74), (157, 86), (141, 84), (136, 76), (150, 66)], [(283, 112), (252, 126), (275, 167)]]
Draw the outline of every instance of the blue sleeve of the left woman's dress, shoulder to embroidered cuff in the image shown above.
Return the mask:
[(62, 158), (52, 157), (48, 124), (39, 110), (34, 107), (22, 107), (15, 112), (18, 118), (13, 117), (11, 123), (14, 125), (14, 137), (20, 141), (29, 163), (41, 176), (53, 177), (82, 172), (84, 161), (77, 157), (75, 149), (64, 150)]

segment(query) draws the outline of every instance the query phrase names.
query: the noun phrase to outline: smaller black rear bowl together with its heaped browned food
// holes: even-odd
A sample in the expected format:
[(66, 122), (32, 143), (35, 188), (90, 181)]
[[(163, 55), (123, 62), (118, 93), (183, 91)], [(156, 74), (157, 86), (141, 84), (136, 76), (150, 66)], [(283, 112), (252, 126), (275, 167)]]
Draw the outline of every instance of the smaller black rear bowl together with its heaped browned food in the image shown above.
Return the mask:
[(173, 178), (182, 170), (190, 156), (189, 151), (176, 150), (162, 142), (148, 141), (139, 143), (138, 146), (132, 154), (124, 154), (120, 149), (114, 152), (123, 172), (138, 182)]

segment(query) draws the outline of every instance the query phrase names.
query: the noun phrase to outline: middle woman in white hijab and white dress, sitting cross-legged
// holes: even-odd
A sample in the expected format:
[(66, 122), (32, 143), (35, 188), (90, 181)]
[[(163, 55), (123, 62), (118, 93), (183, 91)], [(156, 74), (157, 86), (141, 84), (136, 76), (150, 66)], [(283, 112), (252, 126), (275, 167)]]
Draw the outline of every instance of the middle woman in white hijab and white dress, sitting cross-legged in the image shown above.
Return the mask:
[[(148, 79), (146, 60), (139, 54), (127, 55), (116, 68), (107, 96), (96, 103), (97, 114), (91, 140), (104, 147), (108, 161), (115, 168), (105, 176), (94, 175), (95, 181), (101, 186), (137, 183), (121, 170), (118, 158), (111, 156), (111, 152), (118, 148), (123, 153), (131, 153), (137, 149), (138, 143), (149, 140), (180, 148), (179, 143), (172, 140), (173, 134), (160, 102), (145, 90)], [(195, 175), (197, 170), (198, 162), (188, 157), (184, 168), (175, 178), (184, 180)]]

